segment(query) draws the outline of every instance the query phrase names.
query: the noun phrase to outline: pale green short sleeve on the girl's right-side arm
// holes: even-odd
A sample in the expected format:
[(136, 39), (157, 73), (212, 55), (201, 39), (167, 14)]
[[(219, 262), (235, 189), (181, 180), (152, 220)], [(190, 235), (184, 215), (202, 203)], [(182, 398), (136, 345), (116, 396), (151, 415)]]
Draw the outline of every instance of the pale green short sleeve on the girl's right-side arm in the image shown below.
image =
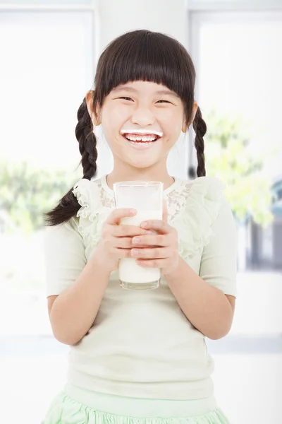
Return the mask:
[(237, 230), (225, 196), (212, 230), (214, 234), (202, 251), (199, 275), (224, 294), (236, 297)]

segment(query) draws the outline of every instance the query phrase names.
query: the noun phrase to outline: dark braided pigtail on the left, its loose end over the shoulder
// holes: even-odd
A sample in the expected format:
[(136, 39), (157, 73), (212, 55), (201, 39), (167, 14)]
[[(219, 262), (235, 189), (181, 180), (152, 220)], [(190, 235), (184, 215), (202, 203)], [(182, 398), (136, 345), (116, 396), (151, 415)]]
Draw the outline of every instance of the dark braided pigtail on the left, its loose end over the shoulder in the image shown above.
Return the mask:
[[(83, 177), (91, 179), (97, 171), (97, 140), (93, 133), (93, 124), (87, 110), (86, 98), (78, 109), (78, 124), (75, 127), (75, 136), (79, 143), (81, 154), (80, 164), (83, 168)], [(76, 216), (80, 204), (73, 194), (73, 187), (65, 194), (59, 204), (50, 212), (44, 213), (46, 225), (59, 225), (73, 216)]]

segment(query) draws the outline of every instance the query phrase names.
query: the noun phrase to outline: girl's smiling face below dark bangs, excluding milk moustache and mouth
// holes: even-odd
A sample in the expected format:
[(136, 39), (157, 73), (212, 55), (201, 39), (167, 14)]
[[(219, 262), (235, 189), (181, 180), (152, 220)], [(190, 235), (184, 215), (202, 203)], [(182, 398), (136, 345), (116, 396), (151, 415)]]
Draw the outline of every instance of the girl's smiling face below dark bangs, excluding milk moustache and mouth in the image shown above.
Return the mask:
[[(186, 131), (182, 100), (166, 86), (149, 81), (130, 81), (114, 88), (97, 115), (94, 124), (102, 123), (115, 166), (126, 163), (140, 170), (166, 163), (181, 130)], [(157, 131), (162, 135), (151, 143), (134, 143), (123, 135), (124, 130)]]

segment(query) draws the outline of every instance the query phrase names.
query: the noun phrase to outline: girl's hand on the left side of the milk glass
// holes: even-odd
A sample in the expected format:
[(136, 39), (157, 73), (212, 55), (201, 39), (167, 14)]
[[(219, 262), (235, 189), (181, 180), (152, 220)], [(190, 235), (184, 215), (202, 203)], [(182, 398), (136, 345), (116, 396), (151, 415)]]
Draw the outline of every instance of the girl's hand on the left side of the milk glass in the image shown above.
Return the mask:
[(118, 208), (111, 212), (103, 224), (101, 239), (94, 256), (109, 272), (118, 269), (119, 259), (131, 257), (130, 251), (133, 248), (134, 236), (143, 236), (149, 233), (135, 225), (119, 225), (121, 218), (134, 216), (136, 213), (135, 209)]

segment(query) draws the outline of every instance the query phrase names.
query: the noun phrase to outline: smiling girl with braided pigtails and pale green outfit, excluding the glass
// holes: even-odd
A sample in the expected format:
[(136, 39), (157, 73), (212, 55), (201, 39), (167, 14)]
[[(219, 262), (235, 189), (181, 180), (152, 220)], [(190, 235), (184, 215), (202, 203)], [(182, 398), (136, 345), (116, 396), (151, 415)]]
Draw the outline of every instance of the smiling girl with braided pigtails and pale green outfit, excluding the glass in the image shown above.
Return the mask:
[[(84, 175), (47, 213), (49, 319), (70, 353), (66, 385), (42, 424), (226, 424), (205, 337), (231, 329), (235, 221), (223, 183), (205, 176), (207, 128), (192, 60), (173, 38), (136, 30), (106, 47), (94, 85), (75, 129)], [(114, 168), (93, 179), (99, 124)], [(192, 182), (166, 169), (190, 124), (198, 159)], [(118, 225), (136, 211), (115, 209), (113, 183), (136, 179), (164, 182), (164, 218)], [(125, 257), (160, 268), (160, 287), (123, 290), (117, 269)]]

